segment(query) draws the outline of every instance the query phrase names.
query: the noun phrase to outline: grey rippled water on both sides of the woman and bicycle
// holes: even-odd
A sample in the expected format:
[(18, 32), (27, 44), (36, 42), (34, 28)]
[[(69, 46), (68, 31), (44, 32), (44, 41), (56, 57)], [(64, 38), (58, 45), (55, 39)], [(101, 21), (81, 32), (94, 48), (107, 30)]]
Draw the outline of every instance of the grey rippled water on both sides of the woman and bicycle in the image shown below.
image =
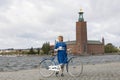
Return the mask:
[[(5, 57), (0, 56), (0, 72), (18, 71), (36, 68), (40, 60), (46, 56), (20, 56)], [(120, 55), (102, 55), (102, 56), (81, 56), (80, 60), (84, 64), (99, 64), (107, 62), (120, 62)]]

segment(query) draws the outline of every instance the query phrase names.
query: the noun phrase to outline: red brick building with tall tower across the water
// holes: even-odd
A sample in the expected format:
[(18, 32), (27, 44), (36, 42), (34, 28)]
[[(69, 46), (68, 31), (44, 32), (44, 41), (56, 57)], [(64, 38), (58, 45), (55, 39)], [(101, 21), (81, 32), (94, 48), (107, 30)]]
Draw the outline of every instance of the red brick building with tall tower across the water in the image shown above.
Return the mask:
[(104, 38), (102, 38), (102, 42), (87, 39), (87, 22), (84, 21), (82, 11), (79, 12), (76, 22), (76, 40), (67, 41), (66, 44), (72, 53), (78, 55), (104, 53)]

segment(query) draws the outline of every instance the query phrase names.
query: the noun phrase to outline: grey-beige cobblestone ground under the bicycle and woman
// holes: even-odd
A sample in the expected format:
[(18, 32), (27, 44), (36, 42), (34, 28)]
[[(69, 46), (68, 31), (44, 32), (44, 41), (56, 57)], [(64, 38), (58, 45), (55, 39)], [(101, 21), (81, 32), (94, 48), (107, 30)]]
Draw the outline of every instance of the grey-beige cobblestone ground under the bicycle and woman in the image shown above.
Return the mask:
[(38, 70), (23, 70), (16, 72), (0, 72), (0, 80), (120, 80), (120, 63), (104, 63), (84, 65), (80, 77), (70, 77), (65, 73), (64, 77), (42, 78)]

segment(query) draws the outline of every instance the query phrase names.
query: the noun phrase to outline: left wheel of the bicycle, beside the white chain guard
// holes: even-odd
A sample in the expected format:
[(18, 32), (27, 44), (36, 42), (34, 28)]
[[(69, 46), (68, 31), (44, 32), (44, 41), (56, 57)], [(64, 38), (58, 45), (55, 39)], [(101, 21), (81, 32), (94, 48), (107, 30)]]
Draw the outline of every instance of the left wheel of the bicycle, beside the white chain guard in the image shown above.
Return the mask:
[(50, 77), (55, 71), (49, 70), (49, 66), (54, 65), (54, 62), (46, 59), (43, 60), (39, 65), (39, 73), (43, 77)]

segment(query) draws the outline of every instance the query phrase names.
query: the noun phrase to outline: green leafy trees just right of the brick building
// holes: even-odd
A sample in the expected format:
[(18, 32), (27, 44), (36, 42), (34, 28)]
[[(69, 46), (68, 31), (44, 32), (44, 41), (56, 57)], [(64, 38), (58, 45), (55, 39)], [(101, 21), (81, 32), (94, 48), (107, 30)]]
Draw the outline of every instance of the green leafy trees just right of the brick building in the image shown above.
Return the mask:
[(118, 51), (119, 50), (112, 43), (108, 43), (105, 45), (105, 53), (114, 53)]

